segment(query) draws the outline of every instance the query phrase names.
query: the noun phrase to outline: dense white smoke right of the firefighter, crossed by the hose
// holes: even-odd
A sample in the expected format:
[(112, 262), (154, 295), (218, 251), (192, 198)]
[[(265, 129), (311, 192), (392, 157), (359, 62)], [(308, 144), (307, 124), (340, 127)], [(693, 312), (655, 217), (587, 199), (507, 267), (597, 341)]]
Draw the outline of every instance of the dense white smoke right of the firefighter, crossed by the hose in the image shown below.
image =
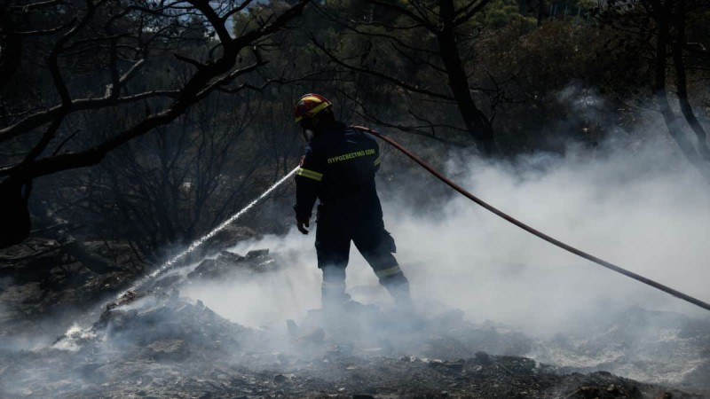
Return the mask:
[[(483, 200), (556, 239), (647, 278), (710, 301), (706, 245), (708, 185), (690, 168), (659, 168), (651, 147), (603, 160), (570, 154), (520, 160), (517, 168), (453, 162), (461, 184)], [(390, 207), (392, 215), (397, 207)], [(469, 200), (457, 198), (435, 218), (394, 217), (392, 230), (411, 262), (415, 291), (526, 331), (564, 332), (565, 320), (600, 303), (706, 310), (606, 270), (537, 239)], [(422, 234), (428, 232), (429, 234)], [(609, 310), (609, 309), (607, 309)]]

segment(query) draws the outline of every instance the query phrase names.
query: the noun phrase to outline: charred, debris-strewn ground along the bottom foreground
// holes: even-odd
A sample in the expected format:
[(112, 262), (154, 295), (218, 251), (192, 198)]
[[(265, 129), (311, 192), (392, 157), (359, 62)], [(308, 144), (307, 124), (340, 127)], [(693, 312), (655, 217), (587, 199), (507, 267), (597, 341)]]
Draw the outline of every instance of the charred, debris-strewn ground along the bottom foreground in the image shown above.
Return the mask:
[[(351, 316), (389, 318), (367, 313)], [(0, 352), (1, 389), (4, 397), (701, 397), (521, 356), (396, 356), (398, 341), (338, 344), (331, 333), (258, 332), (177, 293), (141, 293), (54, 348)], [(432, 337), (414, 350), (445, 357), (454, 344), (462, 345)]]

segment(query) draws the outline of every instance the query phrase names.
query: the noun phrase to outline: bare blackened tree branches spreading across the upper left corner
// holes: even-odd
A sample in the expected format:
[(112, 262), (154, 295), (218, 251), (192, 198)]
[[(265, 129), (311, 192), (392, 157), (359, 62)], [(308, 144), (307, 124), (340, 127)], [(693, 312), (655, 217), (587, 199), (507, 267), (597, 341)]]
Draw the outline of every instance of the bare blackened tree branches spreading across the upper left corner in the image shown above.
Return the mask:
[[(101, 2), (98, 4), (87, 2), (86, 9), (83, 11), (81, 18), (71, 20), (66, 26), (36, 30), (37, 35), (53, 32), (58, 33), (57, 40), (51, 45), (47, 67), (61, 101), (59, 105), (49, 106), (43, 111), (36, 113), (28, 113), (19, 121), (12, 121), (12, 125), (0, 128), (0, 143), (4, 143), (15, 137), (25, 135), (33, 129), (40, 129), (47, 123), (51, 123), (42, 137), (31, 147), (31, 150), (28, 150), (24, 160), (0, 168), (0, 177), (4, 178), (4, 180), (0, 181), (0, 223), (2, 223), (0, 248), (18, 243), (28, 237), (30, 231), (30, 218), (28, 213), (29, 191), (27, 190), (23, 193), (22, 190), (28, 187), (36, 177), (52, 175), (68, 169), (86, 168), (97, 165), (108, 153), (113, 152), (116, 148), (138, 137), (142, 137), (158, 127), (175, 121), (180, 115), (184, 114), (188, 108), (204, 98), (207, 98), (210, 93), (217, 90), (231, 90), (232, 92), (236, 92), (248, 88), (246, 84), (239, 85), (235, 88), (230, 88), (229, 86), (233, 85), (235, 80), (242, 75), (251, 74), (268, 63), (268, 61), (259, 56), (258, 51), (256, 51), (256, 44), (260, 43), (264, 38), (276, 35), (283, 29), (288, 28), (289, 22), (303, 11), (304, 6), (308, 2), (309, 0), (301, 0), (280, 12), (279, 15), (272, 15), (271, 17), (273, 18), (256, 21), (255, 27), (243, 32), (242, 35), (235, 38), (230, 35), (229, 28), (227, 27), (228, 17), (237, 12), (241, 12), (250, 2), (234, 5), (232, 10), (223, 15), (219, 15), (217, 10), (213, 9), (212, 5), (208, 2), (197, 0), (188, 0), (185, 4), (165, 5), (165, 13), (154, 12), (149, 9), (144, 10), (143, 7), (134, 7), (133, 5), (127, 6), (126, 10), (116, 14), (117, 19), (126, 18), (125, 21), (128, 21), (124, 23), (126, 27), (133, 25), (130, 23), (132, 20), (130, 20), (129, 17), (134, 18), (131, 15), (131, 12), (134, 11), (144, 16), (149, 14), (153, 17), (160, 17), (163, 19), (162, 23), (166, 24), (168, 23), (167, 20), (171, 20), (170, 26), (172, 26), (172, 24), (180, 25), (179, 20), (184, 18), (185, 15), (199, 11), (205, 18), (204, 27), (208, 30), (213, 30), (221, 43), (221, 54), (216, 59), (212, 59), (210, 56), (207, 62), (189, 59), (177, 53), (173, 53), (177, 60), (195, 68), (193, 73), (187, 75), (184, 83), (177, 85), (177, 88), (168, 85), (165, 88), (166, 90), (149, 90), (133, 94), (128, 93), (126, 83), (130, 75), (136, 71), (139, 66), (144, 65), (145, 59), (133, 60), (133, 66), (131, 66), (125, 74), (121, 75), (119, 74), (119, 58), (115, 52), (112, 52), (108, 62), (108, 67), (111, 69), (111, 80), (106, 81), (106, 93), (103, 97), (90, 98), (71, 97), (70, 94), (72, 90), (70, 90), (71, 87), (67, 84), (67, 82), (70, 81), (65, 79), (63, 75), (63, 73), (66, 72), (66, 70), (64, 70), (66, 68), (64, 68), (63, 65), (60, 66), (59, 59), (70, 52), (67, 51), (67, 43), (75, 41), (77, 35), (80, 37), (82, 35), (91, 36), (91, 40), (80, 39), (78, 42), (96, 41), (96, 43), (99, 43), (97, 44), (97, 49), (101, 48), (99, 47), (100, 45), (108, 46), (108, 48), (114, 49), (115, 51), (115, 37), (117, 36), (122, 36), (125, 40), (128, 40), (132, 35), (132, 37), (137, 38), (138, 42), (142, 43), (145, 31), (142, 30), (141, 24), (138, 24), (139, 27), (135, 29), (128, 29), (125, 35), (113, 35), (109, 28), (111, 23), (114, 22), (114, 20), (111, 20), (112, 22), (106, 22), (105, 31), (98, 31), (94, 29), (95, 26), (99, 25), (97, 19), (106, 16), (106, 12), (110, 14), (111, 11), (104, 8), (97, 11), (97, 7), (104, 7), (105, 4), (101, 4)], [(29, 15), (28, 12), (31, 12), (31, 10), (48, 12), (48, 10), (51, 11), (51, 7), (61, 4), (63, 3), (54, 1), (38, 2), (34, 4), (33, 7), (14, 7), (14, 9), (20, 10), (18, 11), (20, 14), (27, 15), (27, 18), (30, 18), (31, 15)], [(192, 9), (189, 9), (187, 5), (191, 6)], [(108, 9), (111, 7), (111, 4), (107, 5)], [(0, 7), (0, 9), (1, 8), (2, 7)], [(224, 10), (220, 10), (220, 12), (224, 12)], [(4, 17), (6, 17), (4, 12), (0, 13), (0, 22), (4, 22)], [(2, 75), (0, 76), (0, 87), (4, 82), (3, 79), (6, 78), (5, 73), (7, 73), (8, 76), (12, 75), (12, 67), (14, 67), (12, 59), (7, 59), (6, 51), (21, 50), (17, 48), (12, 50), (13, 47), (5, 43), (9, 40), (9, 36), (5, 30), (4, 25), (0, 25), (0, 40), (2, 40), (2, 42), (0, 42), (0, 72), (3, 72), (3, 74), (0, 74)], [(179, 31), (180, 29), (177, 30)], [(185, 35), (177, 34), (176, 36), (169, 36), (169, 38), (175, 40), (176, 43), (182, 43), (178, 41), (184, 40), (187, 37)], [(14, 36), (11, 38), (16, 39)], [(254, 50), (256, 60), (248, 66), (237, 66), (240, 52), (249, 48)], [(162, 56), (168, 54), (168, 52), (164, 50), (161, 50), (160, 53)], [(141, 56), (145, 57), (146, 54), (150, 54), (150, 51), (145, 51)], [(71, 64), (71, 60), (77, 61), (78, 59), (79, 56), (75, 56), (63, 62)], [(11, 63), (6, 64), (6, 61)], [(99, 66), (99, 64), (96, 65)], [(101, 64), (100, 68), (104, 67), (105, 66)], [(61, 149), (61, 146), (64, 144), (64, 142), (60, 142), (51, 155), (40, 158), (40, 155), (44, 153), (52, 142), (59, 142), (59, 128), (62, 124), (66, 124), (64, 121), (67, 119), (68, 115), (80, 110), (117, 108), (126, 104), (139, 105), (147, 98), (162, 97), (171, 98), (171, 100), (165, 106), (162, 106), (159, 111), (147, 113), (145, 118), (136, 122), (131, 121), (127, 126), (121, 125), (117, 127), (115, 133), (104, 141), (93, 143), (90, 147), (79, 146), (79, 148), (74, 151), (65, 153), (59, 153), (59, 149)], [(44, 108), (45, 105), (37, 104), (36, 107)], [(172, 234), (172, 232), (169, 231), (168, 234)]]

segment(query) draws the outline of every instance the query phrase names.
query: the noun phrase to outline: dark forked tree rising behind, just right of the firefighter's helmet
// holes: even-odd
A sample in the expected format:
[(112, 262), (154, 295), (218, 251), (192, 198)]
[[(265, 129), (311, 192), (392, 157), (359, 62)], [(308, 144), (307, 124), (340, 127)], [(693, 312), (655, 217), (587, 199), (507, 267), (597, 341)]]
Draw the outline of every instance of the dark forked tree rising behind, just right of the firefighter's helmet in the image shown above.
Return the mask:
[[(464, 131), (483, 153), (497, 153), (492, 126), (493, 112), (485, 113), (483, 107), (477, 104), (480, 100), (476, 95), (482, 94), (490, 99), (488, 104), (493, 110), (495, 103), (504, 97), (501, 86), (491, 74), (488, 74), (493, 83), (491, 85), (471, 82), (475, 63), (474, 42), (479, 35), (477, 28), (473, 27), (472, 19), (488, 4), (488, 0), (431, 0), (406, 4), (366, 0), (366, 3), (371, 6), (367, 16), (357, 19), (343, 15), (343, 12), (319, 8), (327, 18), (343, 27), (346, 33), (364, 38), (367, 44), (359, 53), (338, 53), (333, 48), (335, 45), (328, 45), (317, 37), (313, 37), (313, 43), (338, 66), (358, 74), (370, 75), (408, 95), (419, 96), (422, 102), (454, 106), (463, 125), (461, 129), (455, 124), (431, 121), (425, 113), (410, 109), (409, 113), (422, 125), (395, 127), (419, 133), (438, 128)], [(378, 53), (375, 53), (373, 43), (380, 46), (376, 50)], [(387, 69), (382, 66), (382, 62), (377, 65), (378, 59), (382, 61), (387, 58), (382, 51), (396, 54), (409, 66), (420, 71), (426, 70), (432, 77), (422, 84), (413, 82), (404, 74), (398, 74), (398, 68)], [(410, 76), (421, 73), (410, 72)]]

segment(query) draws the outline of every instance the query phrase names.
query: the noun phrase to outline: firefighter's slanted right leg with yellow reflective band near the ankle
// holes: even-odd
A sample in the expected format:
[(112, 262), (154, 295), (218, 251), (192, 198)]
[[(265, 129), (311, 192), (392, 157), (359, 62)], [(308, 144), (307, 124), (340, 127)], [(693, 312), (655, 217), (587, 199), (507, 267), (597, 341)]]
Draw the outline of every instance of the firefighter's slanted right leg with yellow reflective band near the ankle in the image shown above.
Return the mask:
[(384, 230), (383, 223), (380, 221), (370, 226), (365, 233), (358, 234), (354, 241), (360, 254), (375, 270), (380, 284), (392, 295), (398, 306), (411, 307), (409, 281), (392, 254), (397, 248), (390, 233)]

